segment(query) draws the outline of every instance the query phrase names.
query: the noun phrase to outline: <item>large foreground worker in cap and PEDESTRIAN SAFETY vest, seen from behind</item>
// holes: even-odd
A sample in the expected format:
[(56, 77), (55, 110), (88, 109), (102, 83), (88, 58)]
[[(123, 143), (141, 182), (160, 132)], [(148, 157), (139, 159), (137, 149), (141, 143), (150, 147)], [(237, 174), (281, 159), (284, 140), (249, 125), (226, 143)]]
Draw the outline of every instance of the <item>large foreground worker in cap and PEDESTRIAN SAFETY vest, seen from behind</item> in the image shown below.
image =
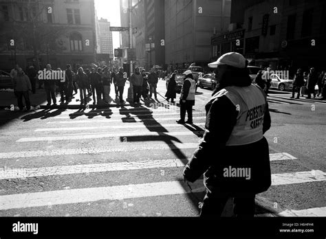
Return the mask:
[(248, 62), (236, 52), (208, 64), (219, 84), (206, 104), (206, 126), (199, 147), (184, 169), (194, 182), (204, 173), (206, 196), (200, 216), (221, 216), (234, 198), (235, 216), (254, 216), (254, 198), (271, 185), (268, 141), (271, 120), (266, 95), (251, 84)]

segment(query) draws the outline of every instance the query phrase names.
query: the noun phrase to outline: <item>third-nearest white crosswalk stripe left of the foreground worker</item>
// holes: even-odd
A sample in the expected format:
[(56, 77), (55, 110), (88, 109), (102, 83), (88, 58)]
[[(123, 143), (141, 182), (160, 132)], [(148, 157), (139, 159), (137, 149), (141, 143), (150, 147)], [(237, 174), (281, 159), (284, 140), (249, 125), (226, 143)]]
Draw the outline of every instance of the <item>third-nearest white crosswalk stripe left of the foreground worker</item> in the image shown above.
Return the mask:
[(142, 150), (174, 150), (197, 148), (198, 143), (175, 143), (175, 144), (152, 144), (152, 145), (131, 145), (129, 143), (121, 144), (121, 146), (110, 146), (107, 148), (67, 148), (55, 150), (36, 150), (36, 151), (17, 151), (17, 152), (0, 152), (0, 159), (17, 159), (26, 157), (46, 157), (46, 156), (62, 156), (62, 155), (84, 155), (99, 154), (102, 152), (129, 152)]

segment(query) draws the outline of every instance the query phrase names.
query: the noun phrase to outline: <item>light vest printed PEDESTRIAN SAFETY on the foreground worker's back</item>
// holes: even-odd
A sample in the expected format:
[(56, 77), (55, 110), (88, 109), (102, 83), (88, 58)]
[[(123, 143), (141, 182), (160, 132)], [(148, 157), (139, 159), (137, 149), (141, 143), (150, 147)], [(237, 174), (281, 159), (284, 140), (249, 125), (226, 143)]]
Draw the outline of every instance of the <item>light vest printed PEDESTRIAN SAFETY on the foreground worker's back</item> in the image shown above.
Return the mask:
[(239, 111), (237, 123), (226, 146), (252, 144), (261, 140), (263, 138), (263, 118), (267, 106), (266, 97), (261, 89), (254, 84), (249, 87), (226, 87), (213, 95), (212, 99), (222, 95), (226, 95)]

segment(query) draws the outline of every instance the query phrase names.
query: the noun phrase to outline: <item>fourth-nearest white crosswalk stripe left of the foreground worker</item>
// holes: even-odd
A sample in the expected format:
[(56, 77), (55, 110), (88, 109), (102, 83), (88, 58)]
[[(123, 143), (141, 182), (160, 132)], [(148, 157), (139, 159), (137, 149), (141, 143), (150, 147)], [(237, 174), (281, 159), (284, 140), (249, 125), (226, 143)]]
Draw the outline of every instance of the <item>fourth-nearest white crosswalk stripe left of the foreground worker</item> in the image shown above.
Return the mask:
[(104, 134), (77, 134), (77, 135), (60, 135), (48, 137), (26, 137), (18, 139), (17, 142), (35, 142), (35, 141), (63, 141), (63, 140), (81, 140), (81, 139), (102, 139), (109, 137), (135, 137), (135, 136), (185, 136), (185, 135), (202, 135), (202, 131), (181, 131), (181, 132), (120, 132)]

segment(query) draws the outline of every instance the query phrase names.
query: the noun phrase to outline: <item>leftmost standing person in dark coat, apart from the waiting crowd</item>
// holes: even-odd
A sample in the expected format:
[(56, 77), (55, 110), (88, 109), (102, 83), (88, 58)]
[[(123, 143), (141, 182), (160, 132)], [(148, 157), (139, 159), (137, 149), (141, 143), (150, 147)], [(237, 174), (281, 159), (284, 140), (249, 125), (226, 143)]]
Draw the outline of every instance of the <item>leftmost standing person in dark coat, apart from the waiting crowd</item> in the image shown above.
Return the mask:
[(18, 67), (17, 74), (13, 78), (14, 83), (14, 95), (17, 97), (19, 111), (23, 111), (23, 98), (25, 99), (26, 111), (30, 111), (30, 95), (29, 91), (32, 91), (32, 85), (30, 79), (25, 75), (23, 69)]

